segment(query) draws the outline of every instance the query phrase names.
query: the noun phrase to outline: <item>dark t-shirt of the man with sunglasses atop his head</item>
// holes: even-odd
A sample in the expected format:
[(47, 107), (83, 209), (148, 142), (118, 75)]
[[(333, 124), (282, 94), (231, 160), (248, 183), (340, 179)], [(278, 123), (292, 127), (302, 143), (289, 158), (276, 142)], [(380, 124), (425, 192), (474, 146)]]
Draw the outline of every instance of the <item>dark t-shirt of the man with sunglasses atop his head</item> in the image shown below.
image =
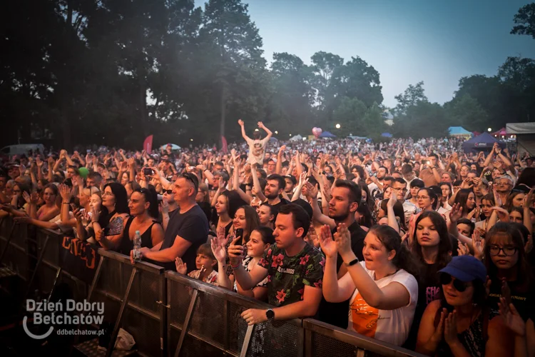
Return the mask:
[[(176, 236), (180, 236), (191, 243), (188, 250), (182, 256), (184, 263), (188, 265), (188, 273), (195, 270), (195, 257), (197, 249), (208, 239), (208, 219), (198, 204), (185, 213), (178, 212), (170, 216), (167, 230), (163, 236), (160, 250), (173, 246)], [(165, 269), (176, 270), (175, 262), (161, 263)]]

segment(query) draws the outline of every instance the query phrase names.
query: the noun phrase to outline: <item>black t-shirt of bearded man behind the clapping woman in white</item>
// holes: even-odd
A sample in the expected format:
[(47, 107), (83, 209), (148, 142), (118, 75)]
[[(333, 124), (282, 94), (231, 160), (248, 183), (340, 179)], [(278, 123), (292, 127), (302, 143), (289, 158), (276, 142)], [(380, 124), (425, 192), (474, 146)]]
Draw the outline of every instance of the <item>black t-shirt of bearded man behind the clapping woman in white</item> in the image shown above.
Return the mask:
[[(363, 261), (362, 248), (364, 248), (364, 238), (366, 238), (367, 233), (357, 222), (353, 222), (347, 229), (351, 233), (351, 250), (360, 261)], [(334, 234), (335, 231), (336, 229), (333, 229), (332, 233)], [(342, 257), (339, 254), (336, 260), (336, 271), (340, 270), (342, 263)], [(347, 328), (349, 309), (349, 300), (342, 301), (341, 303), (330, 303), (325, 298), (322, 298), (318, 318), (320, 321), (330, 323), (331, 325)]]

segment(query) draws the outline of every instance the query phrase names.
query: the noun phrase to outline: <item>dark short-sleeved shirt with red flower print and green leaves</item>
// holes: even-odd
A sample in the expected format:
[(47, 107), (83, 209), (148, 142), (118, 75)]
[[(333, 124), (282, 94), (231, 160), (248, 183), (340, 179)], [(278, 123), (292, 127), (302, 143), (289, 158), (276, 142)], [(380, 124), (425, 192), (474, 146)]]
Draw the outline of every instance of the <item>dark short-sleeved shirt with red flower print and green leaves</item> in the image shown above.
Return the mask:
[(305, 286), (322, 288), (325, 258), (310, 244), (295, 256), (287, 256), (275, 243), (258, 265), (267, 269), (267, 301), (273, 306), (301, 301)]

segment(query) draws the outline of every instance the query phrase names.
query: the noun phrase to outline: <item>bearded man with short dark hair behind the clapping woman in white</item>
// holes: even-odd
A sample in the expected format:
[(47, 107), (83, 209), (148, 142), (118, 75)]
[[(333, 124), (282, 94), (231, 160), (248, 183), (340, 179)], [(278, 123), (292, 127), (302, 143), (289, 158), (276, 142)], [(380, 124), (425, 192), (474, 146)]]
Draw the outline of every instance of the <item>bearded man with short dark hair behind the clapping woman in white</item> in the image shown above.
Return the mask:
[[(340, 223), (345, 223), (351, 233), (351, 249), (357, 258), (364, 259), (362, 248), (364, 248), (364, 238), (366, 232), (355, 221), (355, 211), (359, 207), (362, 199), (362, 190), (355, 182), (347, 180), (337, 180), (335, 187), (332, 188), (332, 198), (329, 201), (329, 216), (320, 212), (320, 206), (317, 204), (317, 188), (307, 183), (307, 196), (312, 200), (312, 211), (314, 219), (323, 224), (327, 224), (333, 233)], [(336, 267), (338, 278), (341, 278), (347, 272), (347, 267), (342, 266), (342, 257), (338, 256)], [(320, 321), (330, 323), (340, 328), (347, 328), (347, 306), (349, 301), (342, 303), (328, 303), (325, 298), (320, 303), (319, 318)]]

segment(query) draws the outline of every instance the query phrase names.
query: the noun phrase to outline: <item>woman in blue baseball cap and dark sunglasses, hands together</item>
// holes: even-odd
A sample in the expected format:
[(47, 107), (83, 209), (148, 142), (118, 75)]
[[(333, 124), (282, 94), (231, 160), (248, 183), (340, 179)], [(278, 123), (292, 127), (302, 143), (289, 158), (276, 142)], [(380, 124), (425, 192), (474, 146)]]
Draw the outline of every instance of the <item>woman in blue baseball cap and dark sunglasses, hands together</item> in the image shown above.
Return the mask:
[(416, 351), (427, 356), (514, 356), (501, 318), (489, 319), (486, 268), (456, 256), (439, 271), (440, 299), (420, 321)]

